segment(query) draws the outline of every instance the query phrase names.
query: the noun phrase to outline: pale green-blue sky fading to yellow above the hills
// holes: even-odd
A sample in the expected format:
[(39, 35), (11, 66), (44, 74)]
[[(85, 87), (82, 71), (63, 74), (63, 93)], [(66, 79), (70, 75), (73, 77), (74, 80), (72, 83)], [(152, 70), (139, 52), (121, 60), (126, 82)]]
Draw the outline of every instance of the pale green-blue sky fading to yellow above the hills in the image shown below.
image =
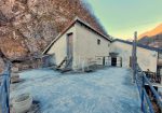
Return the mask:
[(86, 0), (105, 27), (117, 38), (130, 39), (162, 23), (162, 0)]

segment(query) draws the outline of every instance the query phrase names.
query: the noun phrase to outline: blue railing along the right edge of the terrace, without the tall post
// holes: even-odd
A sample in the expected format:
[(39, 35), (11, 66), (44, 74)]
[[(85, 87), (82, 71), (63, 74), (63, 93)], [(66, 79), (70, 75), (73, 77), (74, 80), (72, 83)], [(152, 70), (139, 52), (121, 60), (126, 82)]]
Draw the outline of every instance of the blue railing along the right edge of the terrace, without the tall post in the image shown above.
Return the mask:
[(153, 94), (153, 98), (154, 98), (160, 111), (162, 112), (162, 99), (159, 96), (158, 91), (154, 89), (154, 87), (152, 86), (150, 81), (147, 79), (145, 72), (143, 72), (143, 70), (139, 68), (138, 65), (136, 67), (136, 71), (137, 71), (137, 74), (135, 76), (135, 82), (137, 84), (140, 99), (141, 99), (141, 111), (144, 113), (156, 113), (156, 111), (153, 109), (153, 104), (150, 100), (150, 97), (148, 96), (148, 94), (145, 89), (145, 85), (147, 84), (150, 88), (150, 91)]

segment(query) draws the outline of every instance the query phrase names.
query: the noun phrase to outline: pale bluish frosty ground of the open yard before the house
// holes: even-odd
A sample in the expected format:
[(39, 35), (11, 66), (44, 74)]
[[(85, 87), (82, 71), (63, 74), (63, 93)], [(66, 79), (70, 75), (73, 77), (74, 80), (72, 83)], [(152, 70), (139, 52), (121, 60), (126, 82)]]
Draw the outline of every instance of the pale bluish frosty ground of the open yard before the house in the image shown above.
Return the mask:
[(11, 96), (30, 93), (42, 113), (140, 113), (136, 85), (131, 71), (107, 68), (93, 73), (60, 74), (53, 70), (21, 73)]

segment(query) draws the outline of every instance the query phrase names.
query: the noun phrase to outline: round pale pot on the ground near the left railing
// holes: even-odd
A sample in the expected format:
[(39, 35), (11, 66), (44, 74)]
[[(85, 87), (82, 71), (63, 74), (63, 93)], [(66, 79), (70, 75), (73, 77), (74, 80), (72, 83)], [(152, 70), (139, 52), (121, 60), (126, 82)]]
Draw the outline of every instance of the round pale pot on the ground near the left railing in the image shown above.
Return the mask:
[(16, 113), (27, 112), (32, 104), (32, 97), (29, 94), (23, 94), (13, 99), (13, 109)]

